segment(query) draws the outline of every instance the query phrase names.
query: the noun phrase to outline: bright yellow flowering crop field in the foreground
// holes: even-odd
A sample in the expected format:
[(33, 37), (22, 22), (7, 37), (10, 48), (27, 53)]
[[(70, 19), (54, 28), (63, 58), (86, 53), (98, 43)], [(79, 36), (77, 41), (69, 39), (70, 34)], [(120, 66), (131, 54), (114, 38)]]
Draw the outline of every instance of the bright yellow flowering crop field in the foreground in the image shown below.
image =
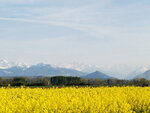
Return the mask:
[(150, 112), (150, 88), (0, 88), (0, 113)]

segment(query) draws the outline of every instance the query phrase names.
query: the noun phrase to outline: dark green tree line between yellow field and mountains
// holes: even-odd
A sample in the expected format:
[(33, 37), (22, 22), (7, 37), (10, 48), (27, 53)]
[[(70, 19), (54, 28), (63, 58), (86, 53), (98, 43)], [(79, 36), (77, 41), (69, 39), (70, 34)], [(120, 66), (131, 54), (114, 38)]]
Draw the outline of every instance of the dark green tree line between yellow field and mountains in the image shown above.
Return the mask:
[(133, 80), (83, 79), (72, 76), (0, 78), (0, 86), (150, 86), (145, 78)]

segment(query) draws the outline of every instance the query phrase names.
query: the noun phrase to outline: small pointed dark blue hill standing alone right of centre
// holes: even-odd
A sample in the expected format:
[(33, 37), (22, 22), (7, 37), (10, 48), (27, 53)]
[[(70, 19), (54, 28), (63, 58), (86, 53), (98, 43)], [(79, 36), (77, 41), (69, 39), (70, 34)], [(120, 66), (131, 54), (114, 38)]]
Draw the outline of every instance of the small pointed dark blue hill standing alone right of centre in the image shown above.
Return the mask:
[(99, 78), (99, 79), (105, 80), (105, 79), (112, 79), (113, 77), (110, 77), (102, 72), (96, 71), (94, 73), (90, 73), (88, 75), (82, 76), (82, 78), (88, 78), (88, 79)]

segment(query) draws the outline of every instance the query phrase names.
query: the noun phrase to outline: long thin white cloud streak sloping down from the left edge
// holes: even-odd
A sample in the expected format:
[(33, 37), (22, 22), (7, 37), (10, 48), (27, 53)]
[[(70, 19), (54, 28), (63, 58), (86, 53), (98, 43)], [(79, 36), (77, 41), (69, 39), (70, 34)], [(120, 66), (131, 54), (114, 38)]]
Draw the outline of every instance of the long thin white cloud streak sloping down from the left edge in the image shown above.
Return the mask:
[(1, 21), (18, 21), (18, 22), (38, 23), (38, 24), (46, 24), (46, 25), (50, 25), (50, 26), (68, 27), (71, 29), (83, 31), (91, 36), (96, 36), (96, 35), (105, 36), (105, 35), (109, 35), (110, 32), (115, 33), (115, 28), (112, 28), (112, 27), (102, 27), (102, 26), (79, 24), (79, 23), (48, 21), (48, 20), (35, 20), (35, 19), (25, 19), (25, 18), (3, 18), (3, 17), (0, 17), (0, 20)]

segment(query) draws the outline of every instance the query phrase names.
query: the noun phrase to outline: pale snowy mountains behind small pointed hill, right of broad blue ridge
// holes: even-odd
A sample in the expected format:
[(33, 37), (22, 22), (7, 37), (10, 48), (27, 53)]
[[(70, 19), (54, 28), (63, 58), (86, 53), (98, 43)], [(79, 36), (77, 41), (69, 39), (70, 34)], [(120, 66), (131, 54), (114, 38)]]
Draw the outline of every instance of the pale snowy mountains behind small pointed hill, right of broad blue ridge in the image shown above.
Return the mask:
[(91, 65), (84, 63), (64, 63), (64, 64), (55, 64), (54, 67), (63, 67), (67, 69), (76, 69), (82, 72), (92, 73), (95, 71), (100, 71), (107, 75), (111, 75), (120, 79), (132, 79), (136, 75), (144, 73), (145, 71), (150, 69), (150, 66), (130, 66), (130, 65), (107, 65), (107, 66), (99, 66), (99, 65)]

